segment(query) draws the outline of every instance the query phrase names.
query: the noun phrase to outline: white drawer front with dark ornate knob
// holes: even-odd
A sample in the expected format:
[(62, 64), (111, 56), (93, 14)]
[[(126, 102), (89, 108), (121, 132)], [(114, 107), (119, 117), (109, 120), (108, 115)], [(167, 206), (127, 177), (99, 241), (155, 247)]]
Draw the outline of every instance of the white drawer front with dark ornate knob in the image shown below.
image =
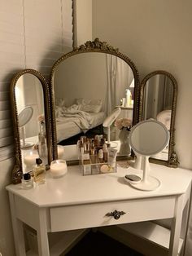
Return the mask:
[[(51, 232), (172, 218), (175, 198), (165, 196), (50, 208)], [(119, 213), (120, 212), (120, 213)], [(109, 216), (115, 215), (115, 216)]]

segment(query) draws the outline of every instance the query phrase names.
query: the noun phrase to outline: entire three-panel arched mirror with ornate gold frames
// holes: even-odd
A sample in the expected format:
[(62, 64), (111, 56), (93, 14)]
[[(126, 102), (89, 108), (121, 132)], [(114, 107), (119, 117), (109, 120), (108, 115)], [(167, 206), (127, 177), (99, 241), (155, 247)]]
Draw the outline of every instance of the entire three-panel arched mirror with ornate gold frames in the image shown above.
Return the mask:
[[(129, 104), (126, 91), (129, 97), (132, 95)], [(116, 118), (129, 118), (130, 126), (149, 118), (162, 121), (168, 127), (170, 141), (168, 148), (151, 157), (151, 161), (177, 167), (176, 104), (177, 82), (172, 74), (162, 70), (149, 73), (140, 85), (133, 61), (98, 38), (55, 62), (50, 87), (41, 73), (24, 69), (11, 82), (16, 157), (12, 183), (20, 183), (22, 174), (32, 169), (31, 158), (37, 156), (47, 168), (52, 159), (58, 158), (78, 164), (77, 140), (84, 135), (107, 138), (103, 122), (117, 107), (120, 114)], [(110, 143), (119, 150), (118, 158), (129, 158), (120, 152), (118, 125), (114, 126), (113, 121), (107, 128), (111, 130)]]

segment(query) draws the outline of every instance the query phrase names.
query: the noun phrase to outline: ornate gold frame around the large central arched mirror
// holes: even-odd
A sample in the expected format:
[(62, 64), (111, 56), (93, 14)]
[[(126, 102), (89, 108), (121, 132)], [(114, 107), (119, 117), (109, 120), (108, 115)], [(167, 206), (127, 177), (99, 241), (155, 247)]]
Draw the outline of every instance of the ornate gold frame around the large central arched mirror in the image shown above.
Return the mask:
[[(87, 53), (87, 52), (102, 52), (110, 55), (116, 55), (120, 59), (124, 60), (127, 64), (129, 64), (129, 67), (132, 68), (133, 76), (134, 76), (134, 107), (133, 107), (133, 126), (137, 124), (138, 121), (138, 115), (139, 115), (139, 74), (137, 71), (137, 68), (135, 64), (133, 64), (133, 61), (129, 59), (127, 55), (124, 55), (120, 53), (120, 51), (117, 48), (114, 48), (113, 46), (110, 46), (107, 44), (107, 42), (101, 42), (98, 38), (95, 38), (94, 41), (87, 41), (84, 45), (81, 45), (79, 47), (75, 47), (73, 51), (68, 52), (67, 54), (64, 54), (57, 60), (51, 69), (50, 73), (50, 104), (51, 104), (51, 118), (52, 118), (52, 141), (53, 141), (53, 159), (57, 159), (58, 153), (57, 153), (57, 135), (56, 135), (56, 123), (55, 123), (55, 95), (54, 95), (54, 74), (55, 74), (55, 68), (63, 62), (64, 60), (67, 60), (68, 58), (72, 57), (73, 55)], [(122, 157), (120, 157), (122, 159)], [(78, 161), (68, 161), (69, 165), (77, 165)]]

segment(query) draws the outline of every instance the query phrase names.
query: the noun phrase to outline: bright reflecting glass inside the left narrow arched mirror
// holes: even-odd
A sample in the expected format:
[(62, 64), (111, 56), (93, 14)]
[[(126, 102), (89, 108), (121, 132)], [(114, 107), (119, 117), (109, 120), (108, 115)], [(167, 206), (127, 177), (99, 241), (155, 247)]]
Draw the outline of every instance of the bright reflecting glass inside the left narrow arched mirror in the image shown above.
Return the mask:
[[(31, 143), (32, 146), (36, 145), (39, 142), (38, 135), (41, 128), (40, 124), (45, 124), (44, 120), (39, 120), (40, 117), (44, 119), (45, 113), (43, 90), (40, 80), (33, 74), (24, 73), (15, 85), (15, 99), (17, 112), (19, 114), (28, 106), (33, 109), (32, 117), (24, 126), (24, 138), (26, 142)], [(21, 147), (22, 166), (24, 172), (32, 170), (32, 166), (35, 164), (35, 158), (41, 155), (39, 151), (40, 148), (38, 148), (39, 150), (37, 152), (37, 148), (33, 148), (32, 146), (24, 148)], [(47, 164), (47, 154), (41, 155), (41, 158), (44, 163)]]

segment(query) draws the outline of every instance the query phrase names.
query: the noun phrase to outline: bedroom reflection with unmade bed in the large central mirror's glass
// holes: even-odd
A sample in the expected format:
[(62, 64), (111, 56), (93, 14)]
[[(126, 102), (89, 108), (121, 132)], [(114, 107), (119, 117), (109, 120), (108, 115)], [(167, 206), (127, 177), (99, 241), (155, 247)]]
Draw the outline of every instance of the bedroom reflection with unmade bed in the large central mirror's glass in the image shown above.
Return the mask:
[[(116, 106), (120, 106), (126, 90), (133, 95), (133, 78), (129, 64), (103, 52), (84, 52), (62, 61), (54, 74), (58, 143), (75, 144), (84, 133), (92, 138), (101, 133), (107, 135), (103, 121)], [(133, 104), (131, 99), (129, 104)], [(128, 105), (122, 106), (124, 111), (120, 117), (129, 116), (132, 120), (133, 105), (126, 107)], [(112, 126), (111, 140), (119, 140), (119, 132)], [(65, 147), (67, 151), (68, 148), (72, 147)]]

